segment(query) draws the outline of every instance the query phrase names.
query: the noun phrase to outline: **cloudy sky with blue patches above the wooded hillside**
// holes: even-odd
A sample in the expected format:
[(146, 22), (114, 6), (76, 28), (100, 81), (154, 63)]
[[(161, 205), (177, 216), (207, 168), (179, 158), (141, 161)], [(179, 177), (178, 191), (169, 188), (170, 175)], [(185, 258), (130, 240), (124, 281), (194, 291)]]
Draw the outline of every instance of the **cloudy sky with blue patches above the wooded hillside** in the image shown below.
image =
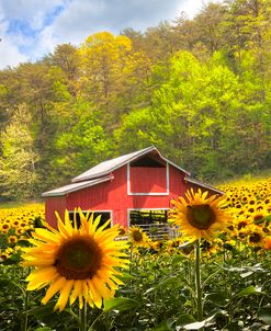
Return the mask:
[(80, 45), (91, 34), (144, 32), (184, 11), (192, 19), (204, 0), (0, 0), (0, 69), (36, 61), (59, 44)]

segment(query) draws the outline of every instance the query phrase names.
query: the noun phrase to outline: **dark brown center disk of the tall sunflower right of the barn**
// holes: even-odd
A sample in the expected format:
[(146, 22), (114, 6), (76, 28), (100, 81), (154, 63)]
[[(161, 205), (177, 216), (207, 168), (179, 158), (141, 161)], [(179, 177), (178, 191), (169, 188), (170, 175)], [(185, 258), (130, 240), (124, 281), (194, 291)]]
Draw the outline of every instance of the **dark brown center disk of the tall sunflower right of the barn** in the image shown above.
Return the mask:
[(215, 222), (215, 213), (210, 205), (193, 205), (187, 207), (189, 222), (196, 229), (206, 230)]

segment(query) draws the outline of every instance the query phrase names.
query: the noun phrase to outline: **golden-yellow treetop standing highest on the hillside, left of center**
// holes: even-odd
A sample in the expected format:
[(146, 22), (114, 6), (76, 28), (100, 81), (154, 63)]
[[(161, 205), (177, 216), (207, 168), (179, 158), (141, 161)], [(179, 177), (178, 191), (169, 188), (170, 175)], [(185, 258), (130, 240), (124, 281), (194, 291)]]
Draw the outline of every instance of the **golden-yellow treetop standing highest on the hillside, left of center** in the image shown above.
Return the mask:
[(106, 118), (104, 126), (111, 129), (134, 102), (143, 101), (148, 58), (134, 53), (128, 37), (109, 32), (89, 36), (79, 55), (82, 96), (97, 105)]

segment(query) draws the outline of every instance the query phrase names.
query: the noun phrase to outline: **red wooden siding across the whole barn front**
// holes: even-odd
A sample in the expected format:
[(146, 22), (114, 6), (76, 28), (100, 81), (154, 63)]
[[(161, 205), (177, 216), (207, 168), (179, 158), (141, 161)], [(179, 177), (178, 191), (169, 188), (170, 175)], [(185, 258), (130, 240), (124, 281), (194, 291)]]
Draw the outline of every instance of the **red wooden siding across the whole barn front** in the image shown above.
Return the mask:
[(165, 209), (170, 208), (170, 201), (184, 196), (185, 190), (197, 186), (184, 181), (184, 173), (169, 164), (169, 193), (167, 194), (167, 168), (131, 167), (132, 192), (165, 193), (160, 195), (128, 195), (127, 166), (113, 172), (112, 181), (71, 192), (66, 196), (46, 198), (46, 216), (53, 226), (56, 226), (54, 212), (64, 215), (65, 208), (74, 210), (112, 212), (113, 224), (127, 226), (128, 209)]

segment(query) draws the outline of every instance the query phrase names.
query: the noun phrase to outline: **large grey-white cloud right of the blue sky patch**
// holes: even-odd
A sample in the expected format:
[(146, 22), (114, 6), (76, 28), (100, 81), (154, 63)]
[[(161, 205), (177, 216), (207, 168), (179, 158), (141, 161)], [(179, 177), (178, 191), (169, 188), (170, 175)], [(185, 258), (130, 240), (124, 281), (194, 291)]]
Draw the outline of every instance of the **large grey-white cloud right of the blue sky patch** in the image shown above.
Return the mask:
[(120, 33), (125, 27), (145, 30), (173, 20), (185, 0), (72, 0), (55, 20), (55, 34), (65, 42), (81, 43), (95, 32)]

